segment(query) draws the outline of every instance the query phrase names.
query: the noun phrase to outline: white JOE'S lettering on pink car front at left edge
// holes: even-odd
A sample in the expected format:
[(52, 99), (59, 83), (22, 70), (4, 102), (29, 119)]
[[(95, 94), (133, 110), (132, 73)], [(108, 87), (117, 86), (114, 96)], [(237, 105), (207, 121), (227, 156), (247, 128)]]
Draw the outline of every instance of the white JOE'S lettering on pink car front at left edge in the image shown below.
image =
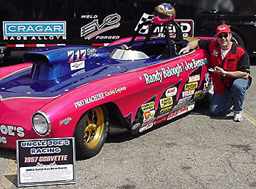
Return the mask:
[[(21, 126), (11, 126), (1, 124), (0, 126), (0, 144), (6, 144), (8, 141), (5, 136), (18, 136), (23, 138), (25, 136), (25, 129)], [(3, 136), (5, 135), (5, 136)]]

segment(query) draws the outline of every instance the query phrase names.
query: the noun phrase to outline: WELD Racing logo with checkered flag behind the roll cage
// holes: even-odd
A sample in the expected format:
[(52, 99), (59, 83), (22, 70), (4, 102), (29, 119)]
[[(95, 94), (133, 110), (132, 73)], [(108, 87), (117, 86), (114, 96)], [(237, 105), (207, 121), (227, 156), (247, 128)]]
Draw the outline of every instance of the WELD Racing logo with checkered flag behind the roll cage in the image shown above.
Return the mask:
[[(139, 23), (137, 24), (135, 31), (137, 31), (137, 28), (139, 24), (143, 23), (144, 21), (147, 20), (152, 20), (153, 15), (143, 13), (142, 18), (140, 18)], [(194, 22), (191, 19), (175, 19), (176, 23), (178, 23), (181, 26), (181, 31), (183, 33), (183, 37), (193, 37), (193, 32), (194, 32)], [(176, 28), (170, 24), (169, 25), (169, 33), (173, 36), (176, 33)], [(142, 26), (140, 29), (139, 33), (146, 35), (146, 33), (149, 32), (149, 26)], [(164, 37), (164, 26), (158, 26), (156, 29), (153, 31), (153, 33), (158, 34), (159, 37)]]

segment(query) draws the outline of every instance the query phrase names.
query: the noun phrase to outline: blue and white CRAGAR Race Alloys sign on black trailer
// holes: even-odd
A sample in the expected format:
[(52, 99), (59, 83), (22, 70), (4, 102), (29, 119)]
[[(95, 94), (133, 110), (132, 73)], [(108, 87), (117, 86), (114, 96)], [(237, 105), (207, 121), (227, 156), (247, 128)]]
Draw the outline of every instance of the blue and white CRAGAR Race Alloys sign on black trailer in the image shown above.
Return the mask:
[(3, 21), (4, 40), (66, 39), (65, 21)]

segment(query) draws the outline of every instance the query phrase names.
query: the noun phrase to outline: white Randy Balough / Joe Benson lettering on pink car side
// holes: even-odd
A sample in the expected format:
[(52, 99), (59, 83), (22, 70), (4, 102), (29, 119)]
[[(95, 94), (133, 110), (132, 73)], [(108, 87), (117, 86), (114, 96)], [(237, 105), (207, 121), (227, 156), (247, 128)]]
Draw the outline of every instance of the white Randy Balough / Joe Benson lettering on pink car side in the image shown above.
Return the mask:
[(191, 61), (192, 61), (191, 63), (188, 63), (187, 61), (178, 63), (173, 68), (169, 68), (169, 67), (161, 68), (161, 71), (155, 70), (155, 72), (151, 74), (148, 74), (148, 73), (142, 74), (144, 76), (146, 85), (149, 85), (154, 82), (161, 83), (166, 78), (173, 77), (173, 76), (180, 77), (181, 73), (183, 73), (184, 70), (188, 71), (188, 70), (196, 69), (203, 65), (208, 64), (207, 58), (201, 58), (199, 60), (192, 59)]

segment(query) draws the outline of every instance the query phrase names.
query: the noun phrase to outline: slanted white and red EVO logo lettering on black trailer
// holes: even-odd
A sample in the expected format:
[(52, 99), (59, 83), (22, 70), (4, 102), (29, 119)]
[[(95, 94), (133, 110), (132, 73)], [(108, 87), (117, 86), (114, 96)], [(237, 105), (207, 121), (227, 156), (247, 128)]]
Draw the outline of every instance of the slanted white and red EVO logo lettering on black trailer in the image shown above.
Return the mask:
[(91, 38), (99, 35), (100, 33), (112, 30), (114, 28), (118, 28), (120, 26), (120, 19), (121, 16), (119, 16), (119, 14), (117, 13), (110, 14), (109, 16), (105, 17), (101, 25), (99, 24), (99, 20), (95, 19), (87, 25), (82, 26), (80, 33), (81, 37), (90, 40)]

